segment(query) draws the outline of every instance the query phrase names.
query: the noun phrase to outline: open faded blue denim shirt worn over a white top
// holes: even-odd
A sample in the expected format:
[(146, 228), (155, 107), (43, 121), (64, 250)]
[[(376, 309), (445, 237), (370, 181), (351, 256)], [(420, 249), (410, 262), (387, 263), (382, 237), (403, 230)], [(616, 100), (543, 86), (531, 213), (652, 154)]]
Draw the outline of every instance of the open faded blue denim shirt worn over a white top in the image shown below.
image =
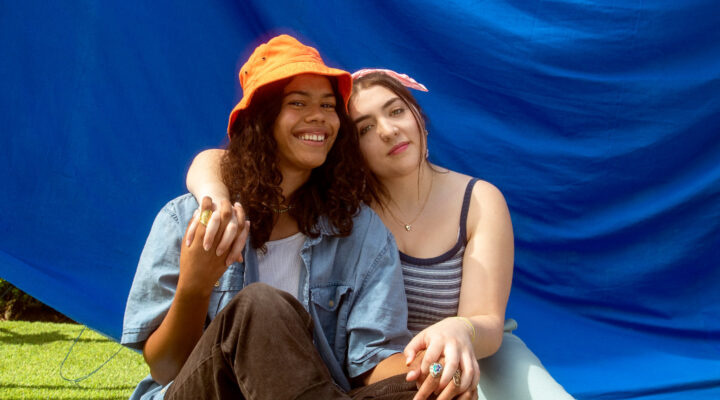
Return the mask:
[[(157, 215), (130, 289), (121, 343), (142, 350), (172, 303), (180, 271), (180, 246), (198, 204), (190, 194), (170, 201)], [(300, 255), (298, 300), (312, 316), (315, 347), (335, 382), (350, 389), (357, 377), (410, 341), (407, 301), (397, 246), (380, 218), (362, 206), (352, 233), (333, 236), (326, 220), (308, 237)], [(258, 281), (258, 262), (248, 239), (244, 262), (230, 265), (210, 296), (207, 323), (243, 287)], [(166, 387), (145, 378), (131, 399), (160, 399)]]

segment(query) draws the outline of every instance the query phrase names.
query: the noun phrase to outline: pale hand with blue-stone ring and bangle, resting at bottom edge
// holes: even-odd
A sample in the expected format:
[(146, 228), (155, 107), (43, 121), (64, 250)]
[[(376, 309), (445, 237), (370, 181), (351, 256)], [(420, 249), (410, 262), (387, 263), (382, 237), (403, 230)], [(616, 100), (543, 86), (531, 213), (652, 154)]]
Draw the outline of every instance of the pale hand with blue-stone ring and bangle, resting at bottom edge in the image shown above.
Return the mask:
[[(426, 399), (431, 393), (439, 394), (440, 400), (459, 394), (462, 394), (460, 398), (465, 398), (465, 394), (475, 390), (480, 380), (480, 368), (471, 337), (463, 320), (446, 318), (427, 327), (408, 343), (404, 354), (410, 372), (406, 379), (418, 384), (416, 400)], [(422, 350), (426, 350), (424, 355), (420, 353)], [(422, 361), (417, 363), (419, 355)], [(430, 365), (435, 362), (443, 365), (442, 374), (428, 379)], [(461, 371), (460, 385), (455, 385), (453, 374), (458, 369)]]

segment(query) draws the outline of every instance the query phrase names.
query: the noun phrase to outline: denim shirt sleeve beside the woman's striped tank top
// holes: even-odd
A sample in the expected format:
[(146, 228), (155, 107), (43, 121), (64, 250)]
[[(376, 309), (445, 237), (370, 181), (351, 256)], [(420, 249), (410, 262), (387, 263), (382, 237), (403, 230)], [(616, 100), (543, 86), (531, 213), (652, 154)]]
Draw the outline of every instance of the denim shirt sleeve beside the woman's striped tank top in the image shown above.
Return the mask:
[(402, 352), (411, 339), (395, 240), (384, 226), (374, 233), (370, 236), (376, 241), (378, 236), (385, 236), (385, 241), (380, 246), (369, 246), (379, 251), (370, 259), (347, 323), (347, 371), (351, 378), (371, 370), (390, 355)]

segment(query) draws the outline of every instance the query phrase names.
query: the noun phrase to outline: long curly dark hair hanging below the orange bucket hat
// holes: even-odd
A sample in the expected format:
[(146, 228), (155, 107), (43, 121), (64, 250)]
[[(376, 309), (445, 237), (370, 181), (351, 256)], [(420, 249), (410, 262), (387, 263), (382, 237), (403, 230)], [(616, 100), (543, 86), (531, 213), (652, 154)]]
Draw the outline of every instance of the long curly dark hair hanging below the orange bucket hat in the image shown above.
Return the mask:
[(310, 178), (289, 199), (280, 188), (277, 142), (273, 125), (280, 113), (283, 89), (292, 78), (266, 85), (253, 96), (250, 105), (238, 114), (230, 128), (230, 142), (221, 170), (230, 198), (239, 201), (250, 225), (250, 245), (265, 250), (278, 210), (290, 207), (289, 214), (300, 231), (310, 237), (320, 234), (319, 218), (330, 222), (333, 234), (347, 236), (361, 202), (371, 199), (365, 181), (368, 174), (360, 155), (357, 131), (345, 110), (337, 82), (328, 77), (335, 94), (335, 111), (340, 129), (325, 163), (313, 169)]

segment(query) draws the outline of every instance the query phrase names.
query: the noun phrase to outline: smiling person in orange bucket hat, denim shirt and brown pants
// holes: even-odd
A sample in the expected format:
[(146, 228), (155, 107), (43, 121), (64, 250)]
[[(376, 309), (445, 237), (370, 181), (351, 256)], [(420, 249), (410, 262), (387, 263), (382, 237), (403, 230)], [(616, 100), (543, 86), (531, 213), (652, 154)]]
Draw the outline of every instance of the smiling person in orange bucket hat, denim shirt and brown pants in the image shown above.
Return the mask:
[[(171, 200), (140, 257), (121, 342), (150, 376), (132, 398), (412, 398), (414, 383), (390, 376), (405, 367), (407, 302), (392, 235), (363, 203), (350, 74), (282, 35), (240, 83), (221, 167), (235, 205)], [(247, 217), (238, 257), (204, 246), (213, 212), (218, 237)]]

